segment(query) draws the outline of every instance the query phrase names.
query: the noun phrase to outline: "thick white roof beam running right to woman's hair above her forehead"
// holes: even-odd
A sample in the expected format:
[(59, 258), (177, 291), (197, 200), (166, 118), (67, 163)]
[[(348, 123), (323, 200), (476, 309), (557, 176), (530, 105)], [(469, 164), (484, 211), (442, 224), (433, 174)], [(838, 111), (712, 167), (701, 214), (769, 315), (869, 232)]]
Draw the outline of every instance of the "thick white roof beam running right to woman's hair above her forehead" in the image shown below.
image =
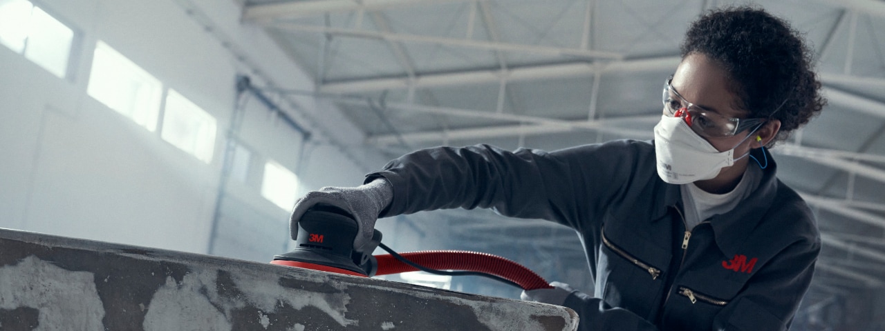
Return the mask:
[(413, 81), (400, 78), (355, 79), (330, 82), (319, 87), (319, 92), (330, 94), (350, 94), (390, 89), (446, 87), (453, 85), (475, 85), (535, 79), (562, 79), (593, 77), (597, 72), (650, 72), (675, 70), (681, 62), (680, 56), (663, 56), (644, 59), (613, 61), (607, 64), (543, 64), (500, 70), (476, 70), (418, 75)]

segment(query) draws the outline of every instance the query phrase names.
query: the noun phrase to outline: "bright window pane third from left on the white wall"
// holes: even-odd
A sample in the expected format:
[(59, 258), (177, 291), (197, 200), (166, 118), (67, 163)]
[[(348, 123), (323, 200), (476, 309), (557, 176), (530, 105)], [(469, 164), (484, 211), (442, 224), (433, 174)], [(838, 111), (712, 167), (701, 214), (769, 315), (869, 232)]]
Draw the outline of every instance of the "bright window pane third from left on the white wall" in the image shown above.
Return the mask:
[(169, 89), (160, 137), (209, 163), (212, 162), (212, 153), (215, 151), (215, 130), (215, 117)]

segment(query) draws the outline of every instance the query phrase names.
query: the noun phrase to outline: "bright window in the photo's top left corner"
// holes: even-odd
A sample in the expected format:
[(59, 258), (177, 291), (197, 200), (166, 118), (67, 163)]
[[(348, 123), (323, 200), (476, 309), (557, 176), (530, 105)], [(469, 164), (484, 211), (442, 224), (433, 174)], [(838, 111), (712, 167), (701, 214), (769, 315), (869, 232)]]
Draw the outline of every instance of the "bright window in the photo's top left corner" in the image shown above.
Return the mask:
[(65, 78), (73, 30), (27, 0), (0, 0), (0, 43)]

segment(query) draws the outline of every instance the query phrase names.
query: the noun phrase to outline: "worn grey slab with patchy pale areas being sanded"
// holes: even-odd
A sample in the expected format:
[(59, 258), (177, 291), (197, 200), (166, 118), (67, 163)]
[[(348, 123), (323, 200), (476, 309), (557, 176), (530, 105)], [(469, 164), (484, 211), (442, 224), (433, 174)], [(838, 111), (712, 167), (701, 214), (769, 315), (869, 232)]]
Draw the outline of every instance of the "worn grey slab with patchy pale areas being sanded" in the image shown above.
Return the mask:
[(0, 229), (2, 330), (576, 327), (555, 305)]

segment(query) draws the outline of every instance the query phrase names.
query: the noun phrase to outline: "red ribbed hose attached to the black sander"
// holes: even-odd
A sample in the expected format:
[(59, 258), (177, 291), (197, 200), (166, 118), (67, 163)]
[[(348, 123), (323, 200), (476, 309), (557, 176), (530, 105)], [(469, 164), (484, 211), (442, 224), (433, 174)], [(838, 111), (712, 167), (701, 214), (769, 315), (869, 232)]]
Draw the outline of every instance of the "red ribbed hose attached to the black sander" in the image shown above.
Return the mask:
[[(550, 285), (534, 271), (523, 267), (519, 263), (507, 260), (500, 256), (484, 252), (467, 251), (423, 251), (404, 252), (399, 254), (403, 258), (436, 270), (464, 270), (477, 273), (496, 275), (507, 281), (514, 282), (523, 290), (550, 289)], [(400, 274), (410, 271), (418, 271), (390, 254), (375, 255), (378, 260), (378, 271), (375, 275)]]

